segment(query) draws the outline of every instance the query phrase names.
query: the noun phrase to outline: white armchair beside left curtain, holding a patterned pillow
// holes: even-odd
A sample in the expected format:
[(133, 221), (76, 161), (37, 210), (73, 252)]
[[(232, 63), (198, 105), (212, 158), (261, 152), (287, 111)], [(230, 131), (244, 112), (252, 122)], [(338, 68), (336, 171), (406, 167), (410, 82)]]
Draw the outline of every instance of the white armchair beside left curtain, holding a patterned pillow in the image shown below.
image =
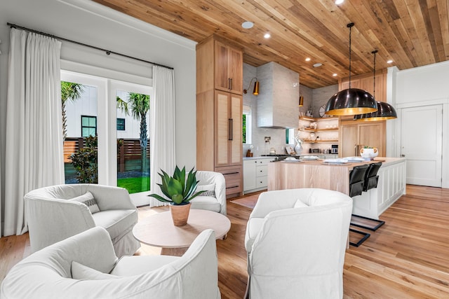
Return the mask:
[[(88, 192), (100, 211), (92, 213), (74, 197)], [(117, 256), (132, 255), (140, 247), (133, 236), (138, 212), (128, 190), (97, 184), (48, 186), (32, 190), (25, 199), (25, 218), (32, 252), (93, 228), (106, 228)]]

